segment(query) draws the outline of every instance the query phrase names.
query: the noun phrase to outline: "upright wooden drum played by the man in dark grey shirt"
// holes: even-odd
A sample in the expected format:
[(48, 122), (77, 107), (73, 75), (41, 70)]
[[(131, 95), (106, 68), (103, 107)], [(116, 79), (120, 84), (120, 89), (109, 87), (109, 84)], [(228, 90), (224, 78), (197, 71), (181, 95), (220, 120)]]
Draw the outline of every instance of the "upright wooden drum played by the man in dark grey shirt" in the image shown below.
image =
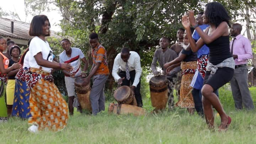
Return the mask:
[(165, 109), (168, 101), (166, 76), (153, 76), (149, 81), (149, 85), (152, 106), (157, 110)]

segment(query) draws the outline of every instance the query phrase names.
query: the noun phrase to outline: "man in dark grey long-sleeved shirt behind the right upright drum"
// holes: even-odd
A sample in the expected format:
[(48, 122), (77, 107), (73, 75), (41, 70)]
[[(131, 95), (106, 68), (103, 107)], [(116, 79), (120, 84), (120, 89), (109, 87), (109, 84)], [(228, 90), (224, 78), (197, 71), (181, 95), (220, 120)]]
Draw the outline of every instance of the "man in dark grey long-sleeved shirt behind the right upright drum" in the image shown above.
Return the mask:
[[(154, 75), (159, 76), (160, 73), (158, 70), (156, 70), (156, 62), (158, 61), (161, 69), (162, 74), (166, 75), (168, 79), (168, 108), (169, 110), (172, 110), (174, 107), (174, 95), (173, 90), (175, 88), (175, 82), (177, 81), (177, 73), (180, 71), (180, 68), (177, 67), (171, 73), (166, 74), (164, 64), (171, 62), (175, 58), (177, 58), (177, 54), (174, 50), (168, 48), (170, 42), (167, 37), (162, 37), (159, 41), (160, 48), (155, 50), (154, 57), (151, 63), (151, 70), (154, 73)], [(180, 89), (176, 89), (177, 91), (180, 91)]]

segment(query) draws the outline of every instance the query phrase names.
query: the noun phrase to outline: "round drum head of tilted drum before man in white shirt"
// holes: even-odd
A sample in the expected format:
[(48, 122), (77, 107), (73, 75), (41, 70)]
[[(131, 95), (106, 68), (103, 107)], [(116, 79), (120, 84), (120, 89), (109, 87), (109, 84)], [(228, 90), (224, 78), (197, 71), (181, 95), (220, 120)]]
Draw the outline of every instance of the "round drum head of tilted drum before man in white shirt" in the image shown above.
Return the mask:
[(130, 87), (129, 86), (121, 86), (114, 92), (114, 98), (118, 102), (122, 102), (130, 95)]

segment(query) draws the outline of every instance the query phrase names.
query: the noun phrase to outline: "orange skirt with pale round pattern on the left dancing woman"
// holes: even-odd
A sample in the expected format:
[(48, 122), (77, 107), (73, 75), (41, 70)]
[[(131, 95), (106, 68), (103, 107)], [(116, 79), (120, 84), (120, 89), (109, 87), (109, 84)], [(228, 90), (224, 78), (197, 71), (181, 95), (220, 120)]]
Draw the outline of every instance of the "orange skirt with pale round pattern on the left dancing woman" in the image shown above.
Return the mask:
[(54, 82), (38, 80), (31, 89), (29, 103), (31, 109), (29, 124), (37, 124), (39, 130), (46, 129), (54, 132), (66, 127), (68, 106)]

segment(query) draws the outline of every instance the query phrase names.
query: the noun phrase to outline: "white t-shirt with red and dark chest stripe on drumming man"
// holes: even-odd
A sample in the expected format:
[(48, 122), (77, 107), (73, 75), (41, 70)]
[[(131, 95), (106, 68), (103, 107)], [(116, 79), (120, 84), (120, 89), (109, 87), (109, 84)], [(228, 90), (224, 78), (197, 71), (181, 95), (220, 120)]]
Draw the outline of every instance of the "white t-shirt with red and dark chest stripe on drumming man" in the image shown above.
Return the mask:
[(71, 50), (70, 57), (66, 55), (65, 50), (60, 53), (59, 60), (60, 63), (69, 63), (73, 67), (73, 70), (70, 71), (70, 73), (75, 72), (75, 77), (77, 77), (81, 75), (80, 59), (84, 58), (85, 56), (82, 53), (82, 50), (79, 48), (71, 48)]

